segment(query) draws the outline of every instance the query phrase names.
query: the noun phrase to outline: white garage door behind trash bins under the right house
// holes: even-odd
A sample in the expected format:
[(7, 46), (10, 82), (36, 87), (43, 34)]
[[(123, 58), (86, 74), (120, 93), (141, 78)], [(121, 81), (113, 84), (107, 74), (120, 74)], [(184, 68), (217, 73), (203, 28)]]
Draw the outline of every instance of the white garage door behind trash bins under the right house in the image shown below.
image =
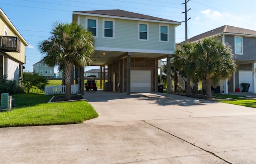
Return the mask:
[(240, 70), (239, 72), (239, 88), (240, 92), (242, 92), (243, 87), (241, 83), (248, 83), (250, 84), (248, 92), (252, 92), (252, 71), (248, 70)]

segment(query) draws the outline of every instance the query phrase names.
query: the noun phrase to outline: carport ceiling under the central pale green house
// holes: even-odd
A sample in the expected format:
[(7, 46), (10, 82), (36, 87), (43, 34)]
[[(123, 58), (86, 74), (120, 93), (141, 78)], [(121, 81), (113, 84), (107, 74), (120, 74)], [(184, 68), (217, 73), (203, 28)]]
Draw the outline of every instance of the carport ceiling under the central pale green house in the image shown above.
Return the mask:
[[(103, 55), (105, 53), (105, 55)], [(95, 51), (92, 55), (92, 66), (106, 65), (108, 62), (122, 58), (127, 52), (116, 52), (116, 51)], [(131, 57), (144, 57), (144, 58), (158, 58), (166, 54), (157, 53), (132, 53)]]

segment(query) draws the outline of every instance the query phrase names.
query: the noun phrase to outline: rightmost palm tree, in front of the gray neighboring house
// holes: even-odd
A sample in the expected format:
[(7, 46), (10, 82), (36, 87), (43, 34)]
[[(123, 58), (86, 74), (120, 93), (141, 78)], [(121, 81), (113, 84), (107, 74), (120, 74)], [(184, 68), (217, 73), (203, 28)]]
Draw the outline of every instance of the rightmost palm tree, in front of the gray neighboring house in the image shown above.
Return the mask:
[(212, 98), (211, 85), (217, 86), (219, 80), (230, 78), (236, 70), (232, 49), (220, 40), (206, 38), (196, 43), (195, 50), (196, 76), (206, 82), (206, 97)]

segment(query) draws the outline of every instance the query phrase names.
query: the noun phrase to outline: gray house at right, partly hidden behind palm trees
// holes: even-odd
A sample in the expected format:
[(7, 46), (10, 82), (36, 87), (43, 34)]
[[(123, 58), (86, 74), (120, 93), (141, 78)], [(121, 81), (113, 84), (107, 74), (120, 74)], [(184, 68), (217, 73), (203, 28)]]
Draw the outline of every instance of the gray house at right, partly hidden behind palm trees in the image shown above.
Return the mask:
[(228, 43), (232, 47), (235, 61), (238, 65), (234, 76), (228, 81), (220, 81), (221, 93), (242, 92), (242, 83), (250, 84), (249, 92), (256, 94), (256, 31), (224, 25), (206, 33), (188, 39), (197, 42), (212, 37)]

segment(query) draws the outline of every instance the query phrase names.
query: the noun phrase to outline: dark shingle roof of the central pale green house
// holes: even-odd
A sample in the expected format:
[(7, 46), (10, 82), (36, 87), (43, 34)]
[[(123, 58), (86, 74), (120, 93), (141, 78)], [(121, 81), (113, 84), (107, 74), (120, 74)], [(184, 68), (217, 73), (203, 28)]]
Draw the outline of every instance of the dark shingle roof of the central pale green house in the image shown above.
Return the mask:
[(171, 21), (171, 22), (180, 23), (178, 21), (166, 20), (166, 19), (163, 19), (163, 18), (147, 16), (147, 15), (138, 14), (138, 13), (134, 13), (134, 12), (127, 12), (127, 11), (124, 11), (124, 10), (92, 10), (92, 11), (76, 11), (76, 12), (88, 13), (88, 14), (107, 15), (107, 16), (118, 16), (118, 17), (126, 17), (126, 18), (156, 20), (156, 21)]

